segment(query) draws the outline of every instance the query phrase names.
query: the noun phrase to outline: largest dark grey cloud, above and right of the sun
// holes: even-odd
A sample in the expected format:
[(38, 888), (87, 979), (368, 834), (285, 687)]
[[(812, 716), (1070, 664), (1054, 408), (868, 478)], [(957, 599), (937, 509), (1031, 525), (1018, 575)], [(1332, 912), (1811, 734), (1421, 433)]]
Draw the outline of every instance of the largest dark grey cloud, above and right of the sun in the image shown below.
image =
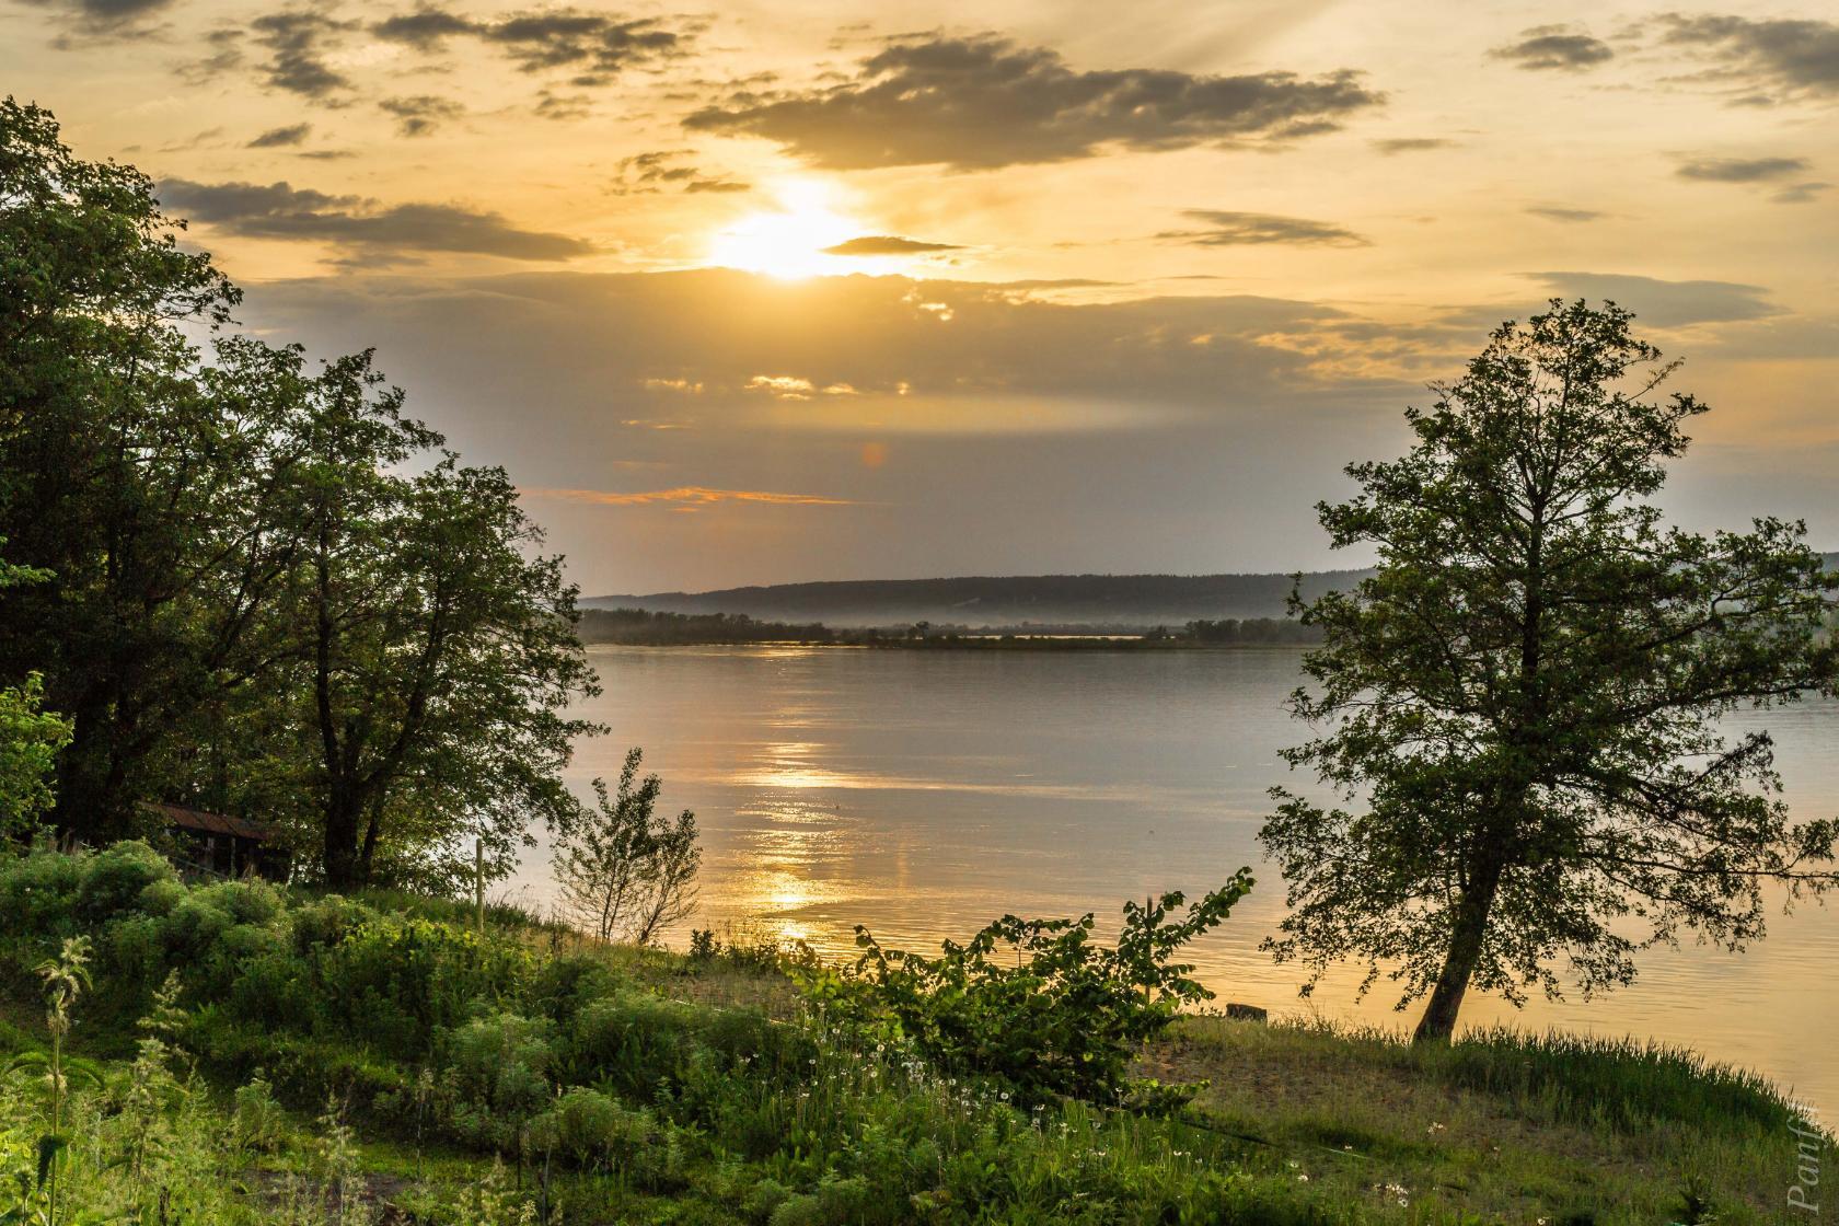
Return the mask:
[(1052, 50), (977, 37), (896, 42), (839, 85), (743, 92), (684, 123), (772, 140), (828, 169), (938, 164), (980, 171), (1087, 158), (1107, 145), (1284, 142), (1333, 131), (1381, 101), (1354, 72), (1311, 79), (1079, 72)]

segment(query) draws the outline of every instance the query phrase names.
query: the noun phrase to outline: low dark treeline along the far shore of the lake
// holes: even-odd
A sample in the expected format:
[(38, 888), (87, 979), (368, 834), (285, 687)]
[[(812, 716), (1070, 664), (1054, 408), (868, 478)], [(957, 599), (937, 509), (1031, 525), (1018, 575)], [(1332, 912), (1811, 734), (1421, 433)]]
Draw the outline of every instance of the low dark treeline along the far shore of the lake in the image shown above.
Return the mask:
[(1131, 647), (1271, 647), (1315, 643), (1315, 629), (1285, 618), (1221, 618), (1107, 632), (1081, 625), (1015, 625), (973, 630), (965, 625), (916, 621), (905, 627), (833, 629), (820, 621), (760, 621), (747, 614), (673, 614), (644, 608), (587, 608), (583, 643), (690, 647), (714, 643), (829, 643), (842, 647), (943, 649), (1131, 649)]

